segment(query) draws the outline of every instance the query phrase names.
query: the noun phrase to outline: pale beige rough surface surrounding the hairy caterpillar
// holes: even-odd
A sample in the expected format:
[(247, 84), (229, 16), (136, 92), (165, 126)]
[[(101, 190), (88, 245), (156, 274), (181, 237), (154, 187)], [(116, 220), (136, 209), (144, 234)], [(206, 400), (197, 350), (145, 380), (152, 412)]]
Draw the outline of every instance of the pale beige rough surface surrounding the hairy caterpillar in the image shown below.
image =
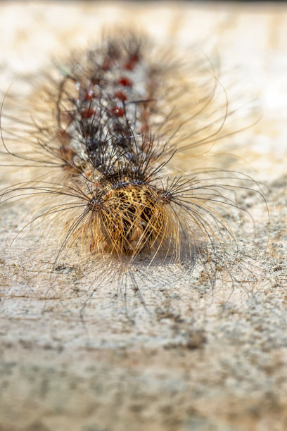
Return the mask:
[(102, 23), (132, 20), (155, 40), (175, 30), (186, 46), (210, 39), (224, 67), (241, 65), (260, 94), (262, 120), (233, 138), (245, 170), (269, 187), (269, 246), (264, 204), (248, 192), (238, 196), (257, 214), (257, 246), (247, 228), (235, 230), (245, 249), (241, 264), (251, 265), (259, 281), (234, 290), (218, 283), (212, 294), (197, 268), (172, 285), (155, 269), (155, 281), (140, 280), (145, 308), (129, 289), (126, 301), (115, 296), (117, 280), (95, 282), (93, 272), (82, 280), (75, 256), (51, 272), (37, 230), (10, 250), (22, 207), (6, 209), (0, 430), (286, 430), (287, 8), (1, 4), (1, 89), (18, 73), (43, 68), (63, 47), (85, 43)]

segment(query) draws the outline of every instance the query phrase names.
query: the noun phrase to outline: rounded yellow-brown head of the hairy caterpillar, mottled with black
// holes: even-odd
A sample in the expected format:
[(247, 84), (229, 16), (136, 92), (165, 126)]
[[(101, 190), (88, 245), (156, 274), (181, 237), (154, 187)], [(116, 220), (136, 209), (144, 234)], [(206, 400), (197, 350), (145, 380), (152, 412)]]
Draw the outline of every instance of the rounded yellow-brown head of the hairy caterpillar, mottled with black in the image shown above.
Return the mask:
[(91, 235), (97, 248), (122, 256), (153, 249), (167, 234), (167, 214), (156, 187), (117, 182), (108, 186), (92, 211)]

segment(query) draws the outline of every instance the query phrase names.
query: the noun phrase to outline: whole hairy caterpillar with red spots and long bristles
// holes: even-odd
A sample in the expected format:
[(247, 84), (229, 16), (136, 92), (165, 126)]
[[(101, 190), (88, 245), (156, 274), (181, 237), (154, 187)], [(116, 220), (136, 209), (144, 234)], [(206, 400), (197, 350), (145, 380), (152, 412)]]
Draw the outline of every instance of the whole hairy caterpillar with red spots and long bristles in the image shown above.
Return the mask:
[(237, 113), (208, 58), (190, 63), (123, 32), (58, 64), (31, 98), (18, 120), (2, 104), (3, 152), (20, 181), (2, 189), (1, 206), (30, 202), (24, 227), (39, 223), (58, 244), (54, 264), (72, 251), (102, 271), (93, 283), (109, 268), (137, 292), (138, 277), (165, 285), (198, 260), (203, 282), (213, 285), (219, 267), (231, 274), (238, 241), (228, 219), (253, 220), (236, 192), (256, 183), (204, 157), (234, 133)]

